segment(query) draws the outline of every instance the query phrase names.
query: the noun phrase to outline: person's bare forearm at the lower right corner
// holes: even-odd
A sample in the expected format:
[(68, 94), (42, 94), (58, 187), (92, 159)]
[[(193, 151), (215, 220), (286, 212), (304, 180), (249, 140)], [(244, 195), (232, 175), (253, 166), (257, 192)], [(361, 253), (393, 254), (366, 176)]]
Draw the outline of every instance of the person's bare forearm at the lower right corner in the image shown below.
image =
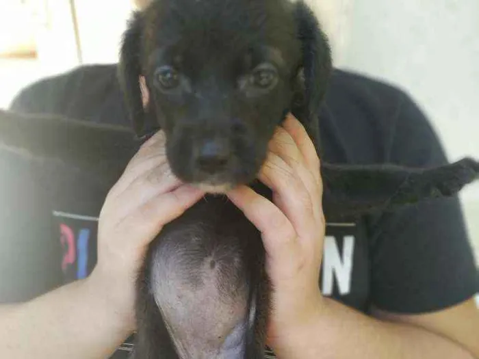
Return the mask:
[(277, 349), (280, 359), (474, 359), (442, 336), (367, 317), (328, 298), (308, 327)]

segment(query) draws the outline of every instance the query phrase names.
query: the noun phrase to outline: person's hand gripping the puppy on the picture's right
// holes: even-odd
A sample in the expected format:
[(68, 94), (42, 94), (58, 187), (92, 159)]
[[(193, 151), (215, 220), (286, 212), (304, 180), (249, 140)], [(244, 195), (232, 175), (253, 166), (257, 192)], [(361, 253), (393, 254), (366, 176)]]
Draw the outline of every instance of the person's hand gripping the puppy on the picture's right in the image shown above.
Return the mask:
[(298, 334), (318, 320), (322, 306), (320, 161), (304, 127), (292, 116), (276, 131), (269, 149), (259, 180), (272, 189), (272, 202), (246, 186), (227, 195), (261, 231), (273, 287), (268, 345), (277, 355), (291, 357)]

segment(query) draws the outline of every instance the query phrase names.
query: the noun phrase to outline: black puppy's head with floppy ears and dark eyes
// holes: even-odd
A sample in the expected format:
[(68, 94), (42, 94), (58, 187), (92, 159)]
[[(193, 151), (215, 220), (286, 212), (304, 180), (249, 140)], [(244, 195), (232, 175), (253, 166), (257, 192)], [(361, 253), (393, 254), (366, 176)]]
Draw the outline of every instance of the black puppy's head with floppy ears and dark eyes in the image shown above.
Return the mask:
[(214, 192), (255, 179), (287, 112), (310, 129), (331, 57), (303, 3), (158, 0), (119, 70), (137, 135), (163, 129), (174, 174)]

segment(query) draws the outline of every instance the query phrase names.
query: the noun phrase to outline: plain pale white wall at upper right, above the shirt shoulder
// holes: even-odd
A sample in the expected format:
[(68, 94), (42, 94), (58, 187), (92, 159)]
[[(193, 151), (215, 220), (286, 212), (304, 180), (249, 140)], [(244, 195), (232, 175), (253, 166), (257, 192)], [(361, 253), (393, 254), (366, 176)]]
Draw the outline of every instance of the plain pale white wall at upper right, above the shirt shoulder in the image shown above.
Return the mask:
[(350, 15), (341, 65), (412, 92), (452, 159), (479, 155), (479, 1), (356, 0)]

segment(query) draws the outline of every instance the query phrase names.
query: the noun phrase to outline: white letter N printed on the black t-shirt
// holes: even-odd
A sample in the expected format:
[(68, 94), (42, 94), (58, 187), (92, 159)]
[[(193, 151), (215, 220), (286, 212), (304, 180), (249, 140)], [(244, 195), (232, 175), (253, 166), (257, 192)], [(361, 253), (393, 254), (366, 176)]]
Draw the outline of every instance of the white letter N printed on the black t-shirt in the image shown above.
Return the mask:
[(344, 236), (343, 255), (339, 254), (336, 239), (333, 236), (324, 238), (322, 293), (333, 294), (333, 274), (337, 280), (339, 293), (345, 295), (351, 290), (352, 258), (354, 252), (354, 236)]

